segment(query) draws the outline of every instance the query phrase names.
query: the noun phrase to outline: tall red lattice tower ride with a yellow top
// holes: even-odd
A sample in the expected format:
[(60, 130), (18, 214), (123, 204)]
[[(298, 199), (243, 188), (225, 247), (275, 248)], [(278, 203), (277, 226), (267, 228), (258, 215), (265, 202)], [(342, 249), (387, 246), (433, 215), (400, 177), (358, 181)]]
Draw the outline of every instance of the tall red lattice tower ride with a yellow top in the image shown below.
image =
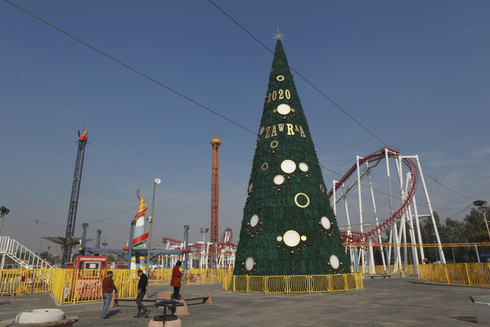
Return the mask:
[(221, 140), (214, 132), (214, 138), (211, 139), (213, 148), (212, 166), (211, 166), (211, 243), (218, 244), (218, 205), (219, 205), (219, 145)]

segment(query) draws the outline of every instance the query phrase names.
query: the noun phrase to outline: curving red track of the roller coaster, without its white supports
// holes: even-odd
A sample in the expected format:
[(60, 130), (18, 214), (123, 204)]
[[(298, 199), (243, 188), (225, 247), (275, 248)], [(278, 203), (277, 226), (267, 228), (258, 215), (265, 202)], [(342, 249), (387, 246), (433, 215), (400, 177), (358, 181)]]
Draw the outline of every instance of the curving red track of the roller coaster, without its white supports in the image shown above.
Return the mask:
[[(399, 150), (395, 148), (382, 148), (379, 151), (370, 154), (368, 156), (365, 156), (363, 158), (359, 158), (359, 167), (361, 165), (365, 164), (365, 162), (375, 162), (375, 164), (372, 167), (366, 168), (362, 173), (360, 173), (360, 177), (362, 179), (363, 176), (365, 176), (367, 173), (369, 173), (369, 170), (379, 164), (379, 162), (385, 158), (385, 149), (388, 150), (388, 157), (389, 158), (398, 158), (399, 156)], [(374, 237), (378, 236), (380, 233), (388, 229), (389, 227), (393, 226), (400, 217), (402, 217), (405, 212), (408, 209), (408, 206), (412, 202), (413, 195), (415, 194), (415, 191), (417, 190), (417, 186), (419, 185), (419, 180), (420, 180), (420, 173), (417, 167), (415, 166), (414, 162), (409, 159), (409, 158), (402, 158), (403, 164), (408, 167), (408, 170), (410, 171), (410, 174), (412, 176), (411, 178), (411, 185), (410, 189), (408, 190), (407, 196), (402, 202), (402, 205), (400, 208), (395, 211), (389, 219), (381, 223), (379, 226), (376, 226), (376, 228), (368, 231), (368, 232), (361, 232), (357, 230), (352, 230), (350, 235), (348, 234), (347, 231), (340, 231), (340, 235), (346, 240), (346, 243), (374, 243), (372, 245), (374, 246), (379, 246), (379, 243), (374, 239)], [(338, 182), (335, 183), (334, 188), (335, 192), (339, 190), (342, 187), (342, 184), (346, 183), (350, 177), (356, 172), (357, 170), (357, 163), (349, 169), (349, 171), (340, 178)], [(357, 176), (355, 180), (348, 186), (347, 190), (342, 192), (338, 200), (340, 200), (342, 197), (346, 196), (347, 193), (349, 193), (357, 183)], [(333, 188), (328, 192), (328, 196), (331, 197), (333, 194)], [(336, 202), (338, 202), (336, 199)]]

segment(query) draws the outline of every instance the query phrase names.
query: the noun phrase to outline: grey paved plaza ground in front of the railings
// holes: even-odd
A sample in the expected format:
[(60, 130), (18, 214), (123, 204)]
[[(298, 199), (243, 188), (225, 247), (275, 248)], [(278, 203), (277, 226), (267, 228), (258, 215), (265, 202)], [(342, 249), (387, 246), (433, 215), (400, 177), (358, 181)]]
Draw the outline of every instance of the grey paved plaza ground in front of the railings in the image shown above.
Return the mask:
[[(189, 306), (183, 326), (469, 326), (477, 327), (470, 295), (490, 295), (489, 289), (414, 284), (414, 278), (365, 279), (364, 289), (316, 294), (233, 293), (220, 284), (184, 286), (184, 298), (209, 291), (212, 305)], [(150, 289), (170, 292), (169, 286)], [(119, 302), (123, 303), (123, 302)], [(78, 327), (147, 326), (150, 319), (133, 318), (136, 306), (109, 309), (101, 319), (102, 301), (63, 305), (67, 315), (79, 315)], [(50, 294), (0, 297), (0, 320), (27, 309), (57, 308)], [(163, 311), (151, 309), (150, 316)]]

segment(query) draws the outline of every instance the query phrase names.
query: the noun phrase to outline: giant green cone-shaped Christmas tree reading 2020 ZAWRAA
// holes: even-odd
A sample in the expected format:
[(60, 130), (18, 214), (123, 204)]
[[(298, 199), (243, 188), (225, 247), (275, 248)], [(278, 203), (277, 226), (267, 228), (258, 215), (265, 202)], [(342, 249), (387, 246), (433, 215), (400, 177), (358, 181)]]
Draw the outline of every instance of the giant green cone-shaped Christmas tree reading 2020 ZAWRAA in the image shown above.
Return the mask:
[(350, 272), (280, 39), (258, 134), (233, 273)]

